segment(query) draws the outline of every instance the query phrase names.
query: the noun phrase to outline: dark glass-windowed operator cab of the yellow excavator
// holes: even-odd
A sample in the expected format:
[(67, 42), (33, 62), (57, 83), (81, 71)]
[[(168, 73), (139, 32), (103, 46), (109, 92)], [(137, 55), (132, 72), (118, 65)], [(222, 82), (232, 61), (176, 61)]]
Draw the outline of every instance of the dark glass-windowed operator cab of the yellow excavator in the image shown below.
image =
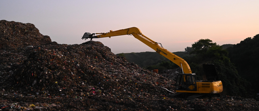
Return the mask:
[(175, 88), (176, 90), (196, 91), (196, 74), (178, 74)]

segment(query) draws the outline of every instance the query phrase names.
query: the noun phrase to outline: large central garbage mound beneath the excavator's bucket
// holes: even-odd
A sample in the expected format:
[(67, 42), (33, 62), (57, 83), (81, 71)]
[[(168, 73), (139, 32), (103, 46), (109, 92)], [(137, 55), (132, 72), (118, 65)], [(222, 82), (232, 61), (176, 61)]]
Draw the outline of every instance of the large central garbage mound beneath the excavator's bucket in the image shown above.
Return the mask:
[(74, 91), (87, 95), (122, 92), (160, 95), (166, 93), (161, 87), (174, 89), (173, 80), (127, 62), (100, 42), (41, 45), (27, 47), (25, 52), (27, 59), (13, 71), (12, 83), (19, 90), (30, 89), (34, 93), (48, 90), (55, 95)]

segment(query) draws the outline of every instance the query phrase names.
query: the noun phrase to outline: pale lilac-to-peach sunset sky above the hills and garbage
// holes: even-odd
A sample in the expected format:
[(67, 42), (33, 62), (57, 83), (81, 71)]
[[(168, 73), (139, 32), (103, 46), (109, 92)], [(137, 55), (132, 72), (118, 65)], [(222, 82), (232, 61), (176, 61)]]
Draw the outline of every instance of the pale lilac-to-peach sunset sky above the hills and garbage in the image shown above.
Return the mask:
[[(236, 44), (259, 34), (258, 0), (0, 0), (0, 20), (34, 24), (59, 44), (81, 44), (85, 32), (103, 33), (138, 27), (170, 52), (184, 51), (199, 39)], [(124, 35), (93, 39), (117, 53), (151, 48)]]

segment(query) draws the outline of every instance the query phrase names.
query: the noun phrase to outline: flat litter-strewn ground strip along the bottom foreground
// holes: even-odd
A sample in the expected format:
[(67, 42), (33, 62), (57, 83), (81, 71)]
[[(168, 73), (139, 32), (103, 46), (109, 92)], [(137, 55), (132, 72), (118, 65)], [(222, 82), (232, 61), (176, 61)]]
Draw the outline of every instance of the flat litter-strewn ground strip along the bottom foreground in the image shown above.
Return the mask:
[[(19, 92), (19, 91), (18, 91)], [(258, 110), (254, 99), (221, 96), (211, 100), (184, 100), (164, 95), (136, 96), (48, 96), (0, 91), (0, 110), (183, 110), (228, 111)]]

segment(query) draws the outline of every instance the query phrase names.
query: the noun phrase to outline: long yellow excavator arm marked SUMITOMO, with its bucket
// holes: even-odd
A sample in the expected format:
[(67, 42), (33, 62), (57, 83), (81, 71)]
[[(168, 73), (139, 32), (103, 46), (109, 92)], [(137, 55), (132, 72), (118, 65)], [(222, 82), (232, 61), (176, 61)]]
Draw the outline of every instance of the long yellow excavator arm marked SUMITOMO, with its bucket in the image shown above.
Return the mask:
[[(94, 34), (100, 34), (100, 35), (93, 36)], [(164, 49), (162, 45), (159, 46), (157, 42), (143, 35), (137, 27), (131, 27), (128, 29), (122, 29), (117, 31), (110, 31), (107, 33), (93, 33), (93, 34), (85, 33), (82, 39), (91, 38), (92, 40), (93, 38), (104, 38), (104, 37), (119, 36), (119, 35), (133, 35), (136, 39), (145, 43), (147, 46), (155, 50), (157, 53), (163, 55), (164, 57), (177, 64), (179, 67), (181, 67), (183, 69), (183, 73), (192, 73), (189, 67), (189, 64), (185, 60), (169, 52), (168, 50)]]

